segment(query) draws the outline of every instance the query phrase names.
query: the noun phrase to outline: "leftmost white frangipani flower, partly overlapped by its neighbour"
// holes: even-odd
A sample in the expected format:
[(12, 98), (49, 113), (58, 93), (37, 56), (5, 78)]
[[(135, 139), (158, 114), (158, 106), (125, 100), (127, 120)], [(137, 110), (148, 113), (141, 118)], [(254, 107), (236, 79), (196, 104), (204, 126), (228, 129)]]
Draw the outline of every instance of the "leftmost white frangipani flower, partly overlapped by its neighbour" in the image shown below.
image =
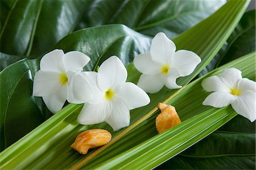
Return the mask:
[[(73, 98), (73, 92), (68, 90), (72, 84), (73, 75), (80, 73), (90, 58), (79, 51), (64, 54), (61, 49), (55, 49), (42, 57), (40, 70), (35, 74), (33, 96), (43, 97), (44, 103), (52, 113), (57, 113), (63, 107), (67, 98)], [(88, 100), (92, 98), (89, 84), (86, 89), (79, 89), (80, 94)]]

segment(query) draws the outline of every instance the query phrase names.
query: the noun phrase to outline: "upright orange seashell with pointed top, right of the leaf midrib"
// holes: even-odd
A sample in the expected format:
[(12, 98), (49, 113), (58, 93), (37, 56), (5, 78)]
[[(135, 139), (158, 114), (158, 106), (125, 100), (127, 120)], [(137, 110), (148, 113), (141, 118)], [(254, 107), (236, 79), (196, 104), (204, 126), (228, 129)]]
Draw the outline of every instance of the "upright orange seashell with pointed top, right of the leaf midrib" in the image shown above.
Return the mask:
[(174, 106), (158, 103), (158, 108), (161, 113), (155, 119), (155, 126), (159, 134), (181, 123)]

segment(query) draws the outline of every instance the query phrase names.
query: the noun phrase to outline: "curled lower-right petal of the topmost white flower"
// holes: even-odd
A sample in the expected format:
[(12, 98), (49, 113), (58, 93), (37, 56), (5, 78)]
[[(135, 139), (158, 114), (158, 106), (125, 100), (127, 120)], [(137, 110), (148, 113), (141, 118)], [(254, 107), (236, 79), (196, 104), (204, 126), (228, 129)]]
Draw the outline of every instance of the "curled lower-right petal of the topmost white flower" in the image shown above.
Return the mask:
[(180, 77), (179, 72), (175, 68), (171, 68), (169, 73), (167, 74), (167, 77), (164, 77), (166, 79), (166, 83), (164, 85), (167, 86), (168, 89), (179, 89), (182, 86), (179, 86), (176, 84), (176, 79)]

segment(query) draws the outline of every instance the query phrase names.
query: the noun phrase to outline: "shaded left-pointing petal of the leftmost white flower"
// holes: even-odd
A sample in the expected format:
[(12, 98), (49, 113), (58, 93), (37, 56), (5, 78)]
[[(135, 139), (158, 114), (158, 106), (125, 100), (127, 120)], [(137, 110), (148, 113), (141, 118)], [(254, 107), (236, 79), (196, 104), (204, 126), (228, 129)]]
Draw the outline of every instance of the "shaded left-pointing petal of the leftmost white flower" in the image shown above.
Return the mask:
[(51, 96), (61, 88), (60, 74), (39, 70), (34, 77), (33, 96)]

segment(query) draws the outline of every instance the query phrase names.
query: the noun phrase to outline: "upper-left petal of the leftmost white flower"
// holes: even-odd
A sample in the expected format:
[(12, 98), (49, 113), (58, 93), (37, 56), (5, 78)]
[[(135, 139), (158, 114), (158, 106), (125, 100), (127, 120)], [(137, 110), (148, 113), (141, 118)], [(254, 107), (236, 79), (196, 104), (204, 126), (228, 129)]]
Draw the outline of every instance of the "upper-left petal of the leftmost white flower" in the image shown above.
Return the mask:
[(62, 49), (55, 49), (48, 52), (40, 61), (40, 69), (42, 71), (64, 73), (65, 68), (62, 61), (63, 56), (64, 52)]

